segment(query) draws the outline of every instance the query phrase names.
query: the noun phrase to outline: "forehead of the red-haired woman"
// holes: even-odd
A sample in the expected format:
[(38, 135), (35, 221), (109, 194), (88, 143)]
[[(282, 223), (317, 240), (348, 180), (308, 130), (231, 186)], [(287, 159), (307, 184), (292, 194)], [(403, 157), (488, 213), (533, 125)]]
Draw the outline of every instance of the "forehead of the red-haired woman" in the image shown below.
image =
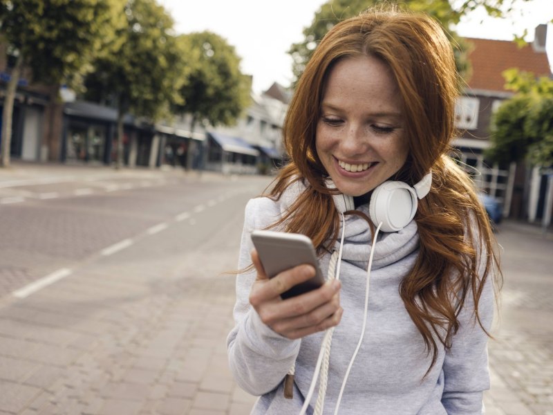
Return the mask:
[(388, 64), (362, 55), (340, 59), (330, 68), (322, 104), (399, 111), (401, 96)]

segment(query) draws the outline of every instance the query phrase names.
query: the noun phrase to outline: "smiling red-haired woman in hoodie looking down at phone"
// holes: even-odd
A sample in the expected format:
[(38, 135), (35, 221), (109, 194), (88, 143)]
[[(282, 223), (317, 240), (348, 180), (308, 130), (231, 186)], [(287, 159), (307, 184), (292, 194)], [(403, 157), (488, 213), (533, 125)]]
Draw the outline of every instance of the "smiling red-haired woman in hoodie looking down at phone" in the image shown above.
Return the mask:
[[(227, 345), (238, 384), (261, 396), (254, 414), (482, 413), (498, 261), (474, 187), (447, 155), (457, 85), (448, 39), (423, 15), (371, 10), (315, 50), (283, 127), (290, 163), (245, 212)], [(380, 219), (373, 198), (387, 181), (416, 197), (391, 196)], [(335, 208), (339, 194), (353, 209)], [(406, 223), (387, 223), (404, 205)], [(268, 279), (256, 229), (308, 235), (326, 284), (281, 299), (314, 270)]]

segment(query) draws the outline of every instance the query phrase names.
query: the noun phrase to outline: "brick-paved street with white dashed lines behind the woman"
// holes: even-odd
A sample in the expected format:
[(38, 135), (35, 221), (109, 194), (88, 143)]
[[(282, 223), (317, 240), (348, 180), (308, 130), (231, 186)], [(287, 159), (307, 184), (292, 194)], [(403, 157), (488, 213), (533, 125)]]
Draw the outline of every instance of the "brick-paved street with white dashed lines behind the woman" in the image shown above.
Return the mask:
[[(243, 415), (227, 368), (243, 209), (263, 176), (0, 171), (0, 414)], [(553, 237), (505, 221), (487, 414), (553, 414)]]

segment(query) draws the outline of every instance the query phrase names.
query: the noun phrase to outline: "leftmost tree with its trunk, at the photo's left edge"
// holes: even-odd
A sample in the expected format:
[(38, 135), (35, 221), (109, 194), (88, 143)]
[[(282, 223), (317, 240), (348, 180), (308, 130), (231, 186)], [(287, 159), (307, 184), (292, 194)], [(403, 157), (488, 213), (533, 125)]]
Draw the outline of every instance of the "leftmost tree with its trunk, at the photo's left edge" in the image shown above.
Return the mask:
[(102, 44), (113, 41), (122, 0), (0, 0), (0, 33), (15, 57), (3, 103), (1, 163), (10, 165), (12, 113), (21, 70), (50, 84), (78, 82)]

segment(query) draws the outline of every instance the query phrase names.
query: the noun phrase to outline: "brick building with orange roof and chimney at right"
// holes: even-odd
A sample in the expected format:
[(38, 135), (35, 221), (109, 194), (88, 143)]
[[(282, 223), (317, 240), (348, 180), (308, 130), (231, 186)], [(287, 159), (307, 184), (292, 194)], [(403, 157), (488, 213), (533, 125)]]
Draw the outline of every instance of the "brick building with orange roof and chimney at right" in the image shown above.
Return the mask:
[(474, 177), (478, 187), (503, 205), (503, 216), (541, 221), (547, 210), (547, 177), (537, 167), (525, 163), (498, 165), (485, 160), (489, 147), (490, 126), (494, 111), (514, 93), (505, 89), (503, 72), (509, 68), (531, 72), (536, 77), (551, 77), (545, 50), (547, 26), (536, 28), (534, 42), (522, 48), (515, 42), (468, 38), (472, 75), (467, 89), (458, 100), (456, 123), (462, 132), (453, 142), (458, 158)]

